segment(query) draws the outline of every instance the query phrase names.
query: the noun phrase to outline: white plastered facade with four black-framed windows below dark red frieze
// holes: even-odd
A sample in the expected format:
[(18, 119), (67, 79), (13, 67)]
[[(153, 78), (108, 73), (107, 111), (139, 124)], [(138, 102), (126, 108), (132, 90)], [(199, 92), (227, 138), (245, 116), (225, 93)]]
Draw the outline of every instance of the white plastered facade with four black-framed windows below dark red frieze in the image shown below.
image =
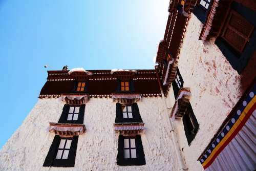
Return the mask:
[(86, 104), (87, 132), (78, 138), (75, 167), (42, 167), (52, 144), (49, 122), (57, 122), (64, 103), (39, 99), (24, 123), (0, 151), (0, 170), (177, 170), (165, 106), (161, 98), (137, 102), (145, 123), (141, 134), (146, 165), (117, 166), (118, 134), (113, 123), (116, 103), (110, 98), (91, 98)]

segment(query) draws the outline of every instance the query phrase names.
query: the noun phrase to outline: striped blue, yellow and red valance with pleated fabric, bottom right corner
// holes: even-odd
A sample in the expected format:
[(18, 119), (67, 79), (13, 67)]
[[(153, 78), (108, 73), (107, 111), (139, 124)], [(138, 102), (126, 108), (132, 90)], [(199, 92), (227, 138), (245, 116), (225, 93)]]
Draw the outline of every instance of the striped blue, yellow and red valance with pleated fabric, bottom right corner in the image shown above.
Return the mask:
[(254, 83), (199, 157), (205, 170), (256, 169), (255, 94)]

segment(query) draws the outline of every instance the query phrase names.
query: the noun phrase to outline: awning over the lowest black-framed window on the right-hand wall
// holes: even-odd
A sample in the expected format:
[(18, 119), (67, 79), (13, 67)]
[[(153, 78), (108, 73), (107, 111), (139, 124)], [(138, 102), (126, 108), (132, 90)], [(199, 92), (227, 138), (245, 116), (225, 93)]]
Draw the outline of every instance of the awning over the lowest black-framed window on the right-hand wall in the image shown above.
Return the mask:
[(182, 88), (179, 91), (179, 95), (174, 104), (173, 110), (170, 113), (170, 118), (182, 118), (186, 112), (186, 109), (189, 105), (189, 98), (191, 96), (191, 92), (188, 88)]

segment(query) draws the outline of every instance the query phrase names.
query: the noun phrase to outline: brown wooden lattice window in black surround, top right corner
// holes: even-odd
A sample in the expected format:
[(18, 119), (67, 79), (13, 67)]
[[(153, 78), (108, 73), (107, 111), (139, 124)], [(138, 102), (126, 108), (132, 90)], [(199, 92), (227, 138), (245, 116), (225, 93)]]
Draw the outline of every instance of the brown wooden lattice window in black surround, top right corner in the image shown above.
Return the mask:
[(253, 30), (253, 25), (240, 14), (231, 10), (221, 37), (226, 40), (232, 48), (242, 53)]

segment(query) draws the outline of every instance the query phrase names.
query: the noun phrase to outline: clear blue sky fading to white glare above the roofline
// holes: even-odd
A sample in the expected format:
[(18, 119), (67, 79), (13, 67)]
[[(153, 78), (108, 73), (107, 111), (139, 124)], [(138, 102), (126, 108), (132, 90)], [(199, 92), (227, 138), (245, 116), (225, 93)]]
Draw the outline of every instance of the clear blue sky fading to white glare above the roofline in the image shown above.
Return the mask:
[(47, 78), (45, 65), (153, 69), (168, 3), (0, 0), (0, 148), (36, 103)]

